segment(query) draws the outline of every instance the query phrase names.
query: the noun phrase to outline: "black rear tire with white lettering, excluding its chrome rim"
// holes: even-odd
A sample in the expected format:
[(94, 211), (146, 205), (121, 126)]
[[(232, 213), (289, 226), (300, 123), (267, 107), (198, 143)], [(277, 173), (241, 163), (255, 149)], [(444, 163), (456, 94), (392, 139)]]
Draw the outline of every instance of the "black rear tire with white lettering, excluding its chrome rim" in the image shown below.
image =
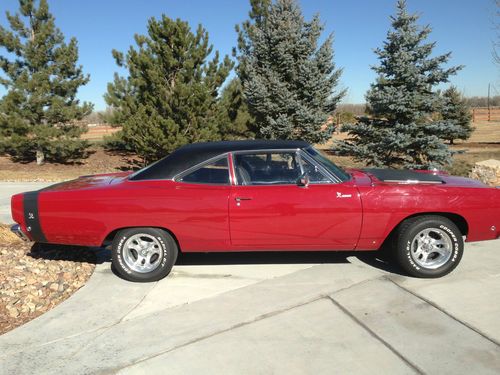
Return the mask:
[[(136, 234), (147, 234), (158, 240), (161, 251), (161, 262), (151, 272), (141, 273), (132, 270), (123, 258), (124, 245), (127, 240)], [(117, 233), (113, 240), (112, 248), (114, 269), (123, 278), (130, 281), (149, 282), (157, 281), (167, 276), (177, 258), (177, 244), (165, 231), (155, 228), (132, 228)]]

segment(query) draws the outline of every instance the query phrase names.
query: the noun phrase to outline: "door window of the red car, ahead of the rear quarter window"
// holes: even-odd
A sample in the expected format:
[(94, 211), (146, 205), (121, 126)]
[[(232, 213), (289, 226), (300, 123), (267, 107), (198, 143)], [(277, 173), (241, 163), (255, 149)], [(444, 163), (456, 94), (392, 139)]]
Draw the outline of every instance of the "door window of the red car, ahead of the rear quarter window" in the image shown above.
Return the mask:
[(301, 169), (295, 152), (259, 152), (234, 156), (238, 185), (296, 184)]

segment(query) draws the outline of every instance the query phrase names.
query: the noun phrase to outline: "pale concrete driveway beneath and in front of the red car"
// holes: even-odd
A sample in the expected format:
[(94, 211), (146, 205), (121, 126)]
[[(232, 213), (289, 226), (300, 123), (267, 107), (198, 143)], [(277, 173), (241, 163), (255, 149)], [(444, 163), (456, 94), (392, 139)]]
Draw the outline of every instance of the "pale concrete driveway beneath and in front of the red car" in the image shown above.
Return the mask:
[(373, 254), (188, 254), (136, 284), (104, 260), (0, 337), (0, 373), (500, 373), (500, 241), (441, 279), (391, 271)]

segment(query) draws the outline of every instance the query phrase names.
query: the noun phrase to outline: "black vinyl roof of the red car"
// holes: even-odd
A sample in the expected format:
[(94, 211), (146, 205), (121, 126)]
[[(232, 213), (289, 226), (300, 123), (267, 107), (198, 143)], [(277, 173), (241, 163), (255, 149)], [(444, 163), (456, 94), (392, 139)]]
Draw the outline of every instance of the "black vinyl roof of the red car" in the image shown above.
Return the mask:
[(131, 180), (171, 179), (188, 168), (226, 152), (250, 150), (280, 150), (309, 147), (304, 141), (222, 141), (192, 143), (175, 150), (167, 157), (133, 174)]

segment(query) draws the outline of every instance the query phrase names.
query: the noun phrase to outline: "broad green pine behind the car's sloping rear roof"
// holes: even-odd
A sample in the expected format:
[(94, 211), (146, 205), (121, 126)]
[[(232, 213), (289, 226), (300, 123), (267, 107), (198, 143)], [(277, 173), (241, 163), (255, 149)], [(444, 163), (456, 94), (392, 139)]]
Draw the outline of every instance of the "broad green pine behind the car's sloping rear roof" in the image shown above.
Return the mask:
[(112, 123), (146, 162), (190, 143), (221, 138), (218, 90), (233, 63), (212, 53), (208, 33), (193, 33), (187, 22), (165, 15), (148, 21), (148, 35), (136, 35), (126, 56), (113, 51), (128, 77), (115, 74), (104, 98)]

